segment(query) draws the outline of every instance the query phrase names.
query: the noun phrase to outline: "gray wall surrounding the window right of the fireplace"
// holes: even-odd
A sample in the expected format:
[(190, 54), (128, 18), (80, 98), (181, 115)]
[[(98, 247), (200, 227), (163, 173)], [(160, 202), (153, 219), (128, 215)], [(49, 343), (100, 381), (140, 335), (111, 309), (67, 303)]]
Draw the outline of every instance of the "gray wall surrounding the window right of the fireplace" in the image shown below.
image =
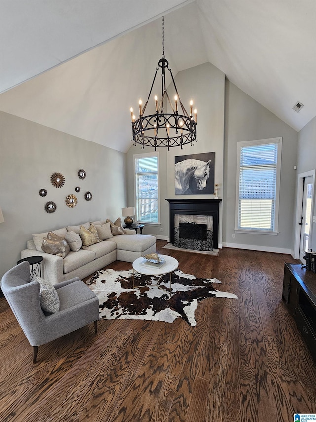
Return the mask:
[[(274, 252), (290, 253), (295, 208), (295, 184), (298, 133), (273, 113), (226, 80), (223, 244)], [(283, 137), (279, 205), (279, 234), (234, 234), (236, 199), (237, 142)]]

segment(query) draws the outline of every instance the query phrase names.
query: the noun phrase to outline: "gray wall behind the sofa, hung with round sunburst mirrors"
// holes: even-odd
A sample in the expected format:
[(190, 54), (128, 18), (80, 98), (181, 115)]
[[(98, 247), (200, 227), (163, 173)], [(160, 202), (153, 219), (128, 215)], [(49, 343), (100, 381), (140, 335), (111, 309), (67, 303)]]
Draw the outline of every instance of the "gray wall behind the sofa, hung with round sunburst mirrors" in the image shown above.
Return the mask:
[[(32, 233), (121, 217), (127, 203), (125, 154), (3, 112), (0, 127), (0, 206), (5, 219), (0, 224), (0, 277), (20, 259)], [(77, 175), (81, 168), (87, 174), (84, 180)], [(51, 184), (54, 172), (64, 175), (63, 187)], [(39, 195), (42, 188), (48, 192), (45, 197)], [(86, 191), (93, 195), (89, 202)], [(77, 196), (76, 207), (65, 204), (68, 194)], [(57, 205), (53, 214), (44, 210), (47, 201)]]

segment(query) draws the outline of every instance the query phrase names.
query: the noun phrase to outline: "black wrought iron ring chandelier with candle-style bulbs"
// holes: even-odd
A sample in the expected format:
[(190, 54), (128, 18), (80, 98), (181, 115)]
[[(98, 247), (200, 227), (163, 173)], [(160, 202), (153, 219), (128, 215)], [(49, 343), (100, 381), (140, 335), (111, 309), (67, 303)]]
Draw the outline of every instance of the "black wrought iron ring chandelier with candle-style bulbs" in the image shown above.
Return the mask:
[[(161, 100), (158, 105), (158, 97), (154, 96), (155, 100), (155, 114), (145, 115), (145, 110), (152, 94), (155, 79), (159, 68), (162, 69), (162, 86), (161, 86)], [(167, 93), (166, 88), (166, 69), (170, 72), (173, 86), (175, 89), (174, 107)], [(169, 101), (172, 113), (166, 113), (164, 106)], [(181, 108), (181, 112), (178, 111)], [(136, 116), (133, 114), (133, 109), (130, 108), (130, 114), (132, 118), (132, 130), (134, 145), (152, 146), (155, 148), (169, 148), (173, 146), (181, 146), (193, 143), (197, 138), (197, 110), (192, 110), (193, 101), (190, 101), (190, 115), (187, 113), (184, 105), (181, 102), (180, 95), (178, 93), (174, 78), (169, 68), (169, 63), (164, 56), (164, 17), (162, 17), (162, 58), (158, 62), (158, 68), (148, 94), (147, 101), (142, 108), (142, 100), (139, 100), (139, 118), (136, 120)], [(193, 112), (192, 112), (193, 111)]]

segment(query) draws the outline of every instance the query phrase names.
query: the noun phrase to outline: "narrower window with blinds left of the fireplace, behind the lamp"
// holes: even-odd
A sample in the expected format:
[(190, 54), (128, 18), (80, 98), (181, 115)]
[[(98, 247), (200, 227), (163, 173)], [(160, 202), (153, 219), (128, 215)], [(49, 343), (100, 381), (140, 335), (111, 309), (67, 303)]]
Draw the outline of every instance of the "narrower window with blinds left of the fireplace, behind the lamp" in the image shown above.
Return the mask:
[(159, 153), (134, 155), (136, 219), (160, 223)]

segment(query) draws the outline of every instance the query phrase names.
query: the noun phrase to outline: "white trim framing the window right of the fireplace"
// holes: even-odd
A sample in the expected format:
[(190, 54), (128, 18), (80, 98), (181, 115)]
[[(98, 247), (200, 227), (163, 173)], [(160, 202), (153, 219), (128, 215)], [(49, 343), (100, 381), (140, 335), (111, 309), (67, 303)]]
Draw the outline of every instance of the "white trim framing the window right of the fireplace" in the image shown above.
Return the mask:
[[(278, 219), (279, 219), (279, 202), (280, 202), (280, 183), (281, 183), (281, 161), (282, 161), (282, 137), (259, 139), (255, 141), (240, 141), (237, 142), (237, 166), (236, 166), (236, 202), (235, 202), (235, 229), (237, 233), (247, 234), (270, 234), (277, 235)], [(241, 148), (244, 146), (265, 145), (269, 143), (277, 144), (277, 163), (276, 163), (276, 199), (274, 211), (273, 230), (258, 230), (258, 229), (239, 229), (238, 228), (238, 213), (239, 213), (239, 180), (240, 180), (240, 154)]]

